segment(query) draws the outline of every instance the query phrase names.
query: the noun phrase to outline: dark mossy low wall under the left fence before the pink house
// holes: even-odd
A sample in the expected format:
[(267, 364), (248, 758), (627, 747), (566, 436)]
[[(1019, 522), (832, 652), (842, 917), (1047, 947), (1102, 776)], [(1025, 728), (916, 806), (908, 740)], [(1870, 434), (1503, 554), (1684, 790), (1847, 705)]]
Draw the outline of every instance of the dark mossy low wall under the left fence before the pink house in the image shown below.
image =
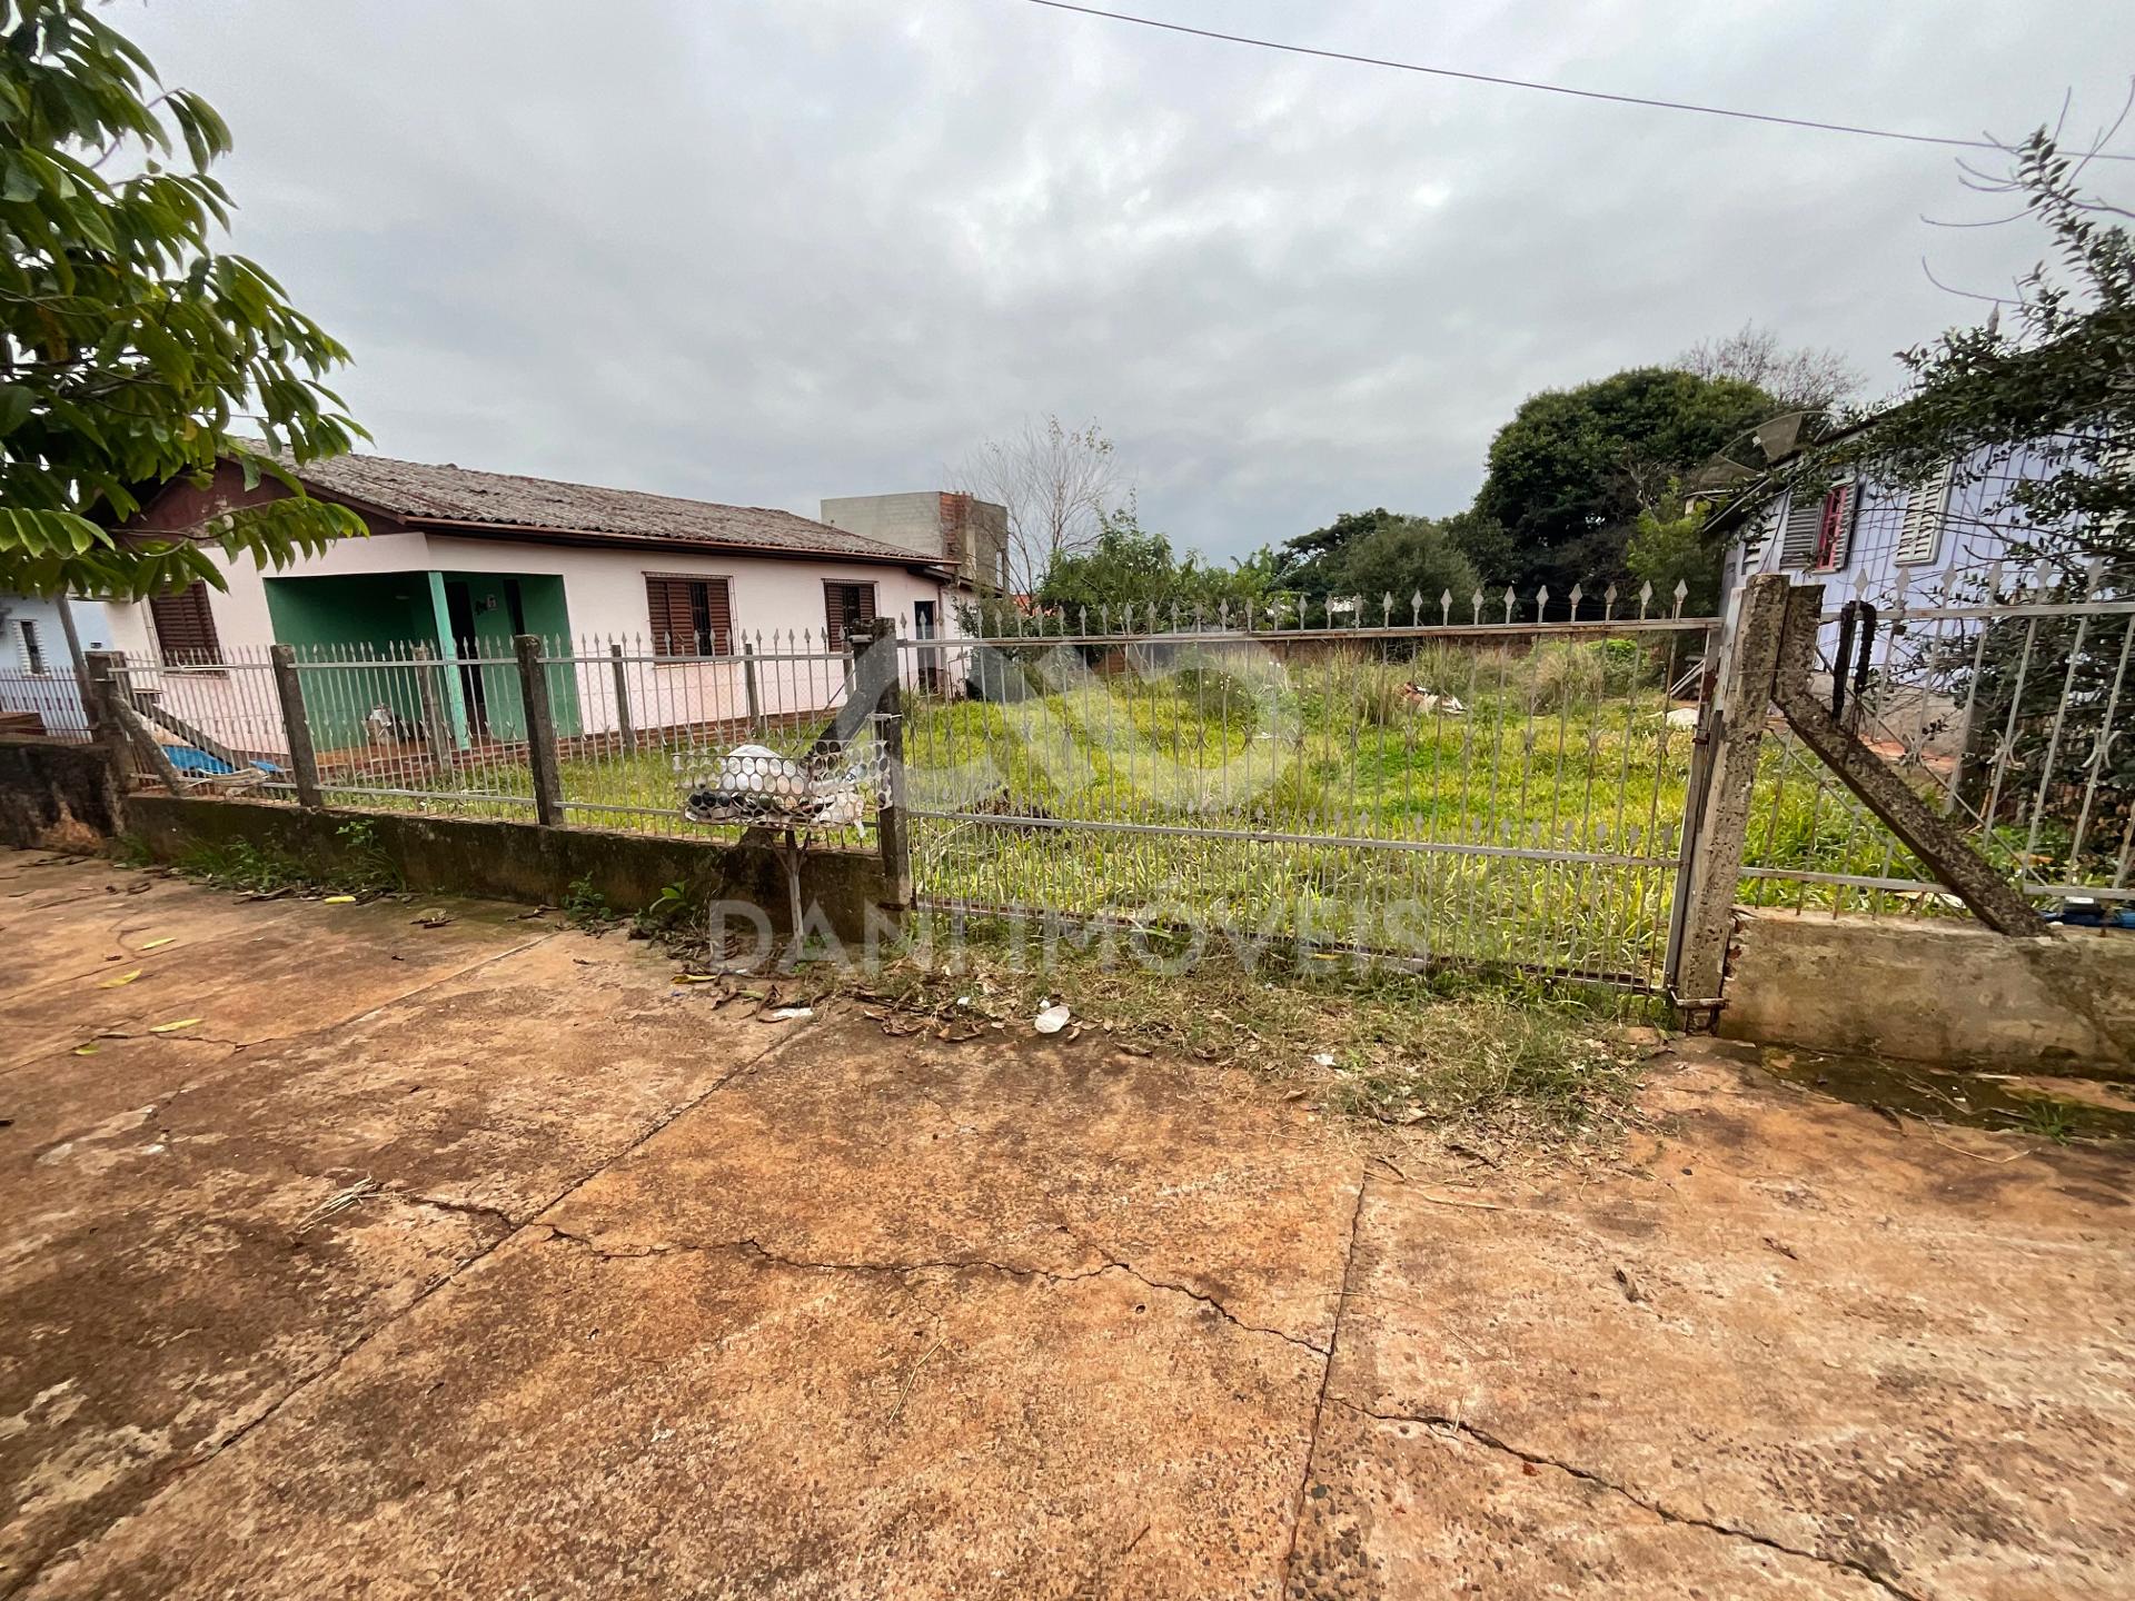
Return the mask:
[[(585, 882), (617, 912), (636, 912), (679, 882), (698, 905), (747, 901), (762, 907), (779, 933), (792, 924), (786, 867), (762, 845), (406, 811), (303, 811), (273, 800), (126, 798), (126, 830), (164, 862), (201, 845), (248, 841), (331, 875), (359, 865), (361, 847), (344, 835), (352, 820), (367, 824), (369, 847), (399, 867), (410, 890), (555, 905), (572, 884)], [(818, 850), (803, 858), (801, 903), (820, 907), (839, 939), (863, 939), (869, 912), (890, 916), (882, 909), (886, 890), (882, 860), (873, 854)]]

